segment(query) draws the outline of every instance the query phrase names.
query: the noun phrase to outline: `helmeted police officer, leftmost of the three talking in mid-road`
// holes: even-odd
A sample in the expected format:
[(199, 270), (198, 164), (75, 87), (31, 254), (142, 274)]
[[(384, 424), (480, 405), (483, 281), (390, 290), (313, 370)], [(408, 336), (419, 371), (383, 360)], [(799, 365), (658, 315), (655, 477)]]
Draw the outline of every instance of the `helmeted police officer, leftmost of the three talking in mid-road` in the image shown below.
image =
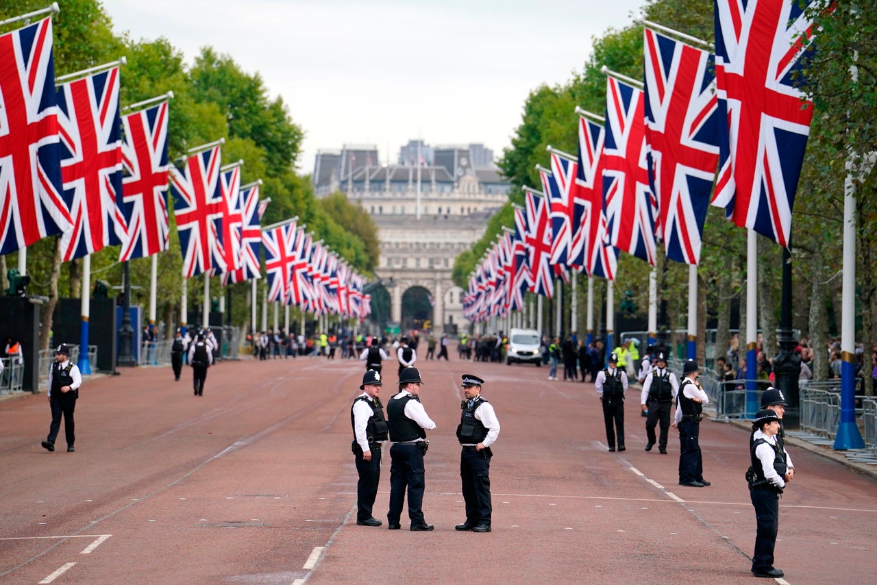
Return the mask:
[(360, 396), (350, 408), (353, 425), (353, 454), (360, 481), (356, 484), (356, 524), (380, 526), (381, 521), (372, 516), (374, 498), (381, 482), (381, 442), (387, 440), (387, 421), (383, 416), (381, 398), (381, 375), (368, 370), (362, 376)]

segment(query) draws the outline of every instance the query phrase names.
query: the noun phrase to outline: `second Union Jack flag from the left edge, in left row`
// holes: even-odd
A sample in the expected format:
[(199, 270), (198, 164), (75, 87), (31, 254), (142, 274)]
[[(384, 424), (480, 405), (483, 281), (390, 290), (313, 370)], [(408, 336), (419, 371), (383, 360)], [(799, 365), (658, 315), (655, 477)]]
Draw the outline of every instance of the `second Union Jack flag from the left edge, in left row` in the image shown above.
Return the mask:
[(118, 67), (58, 87), (61, 181), (73, 228), (61, 235), (61, 260), (128, 239), (122, 212)]

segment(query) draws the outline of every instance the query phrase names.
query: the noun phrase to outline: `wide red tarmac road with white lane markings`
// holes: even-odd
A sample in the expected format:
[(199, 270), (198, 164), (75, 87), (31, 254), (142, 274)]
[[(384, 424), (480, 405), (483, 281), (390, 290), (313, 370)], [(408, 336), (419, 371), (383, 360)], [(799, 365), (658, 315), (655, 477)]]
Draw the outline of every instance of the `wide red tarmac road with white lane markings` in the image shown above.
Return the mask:
[[(0, 582), (9, 583), (757, 583), (743, 478), (747, 433), (702, 423), (704, 475), (678, 485), (670, 454), (645, 453), (638, 391), (624, 453), (607, 453), (589, 383), (545, 367), (459, 360), (417, 364), (438, 428), (426, 455), (432, 532), (388, 531), (389, 449), (380, 528), (355, 523), (350, 404), (354, 360), (229, 361), (203, 397), (191, 371), (123, 370), (86, 382), (76, 452), (47, 453), (46, 395), (0, 403)], [(460, 375), (487, 382), (502, 424), (491, 470), (493, 531), (456, 532)], [(385, 367), (396, 381), (396, 365)], [(384, 403), (394, 384), (382, 389)], [(870, 582), (877, 481), (790, 447), (776, 566), (793, 585)]]

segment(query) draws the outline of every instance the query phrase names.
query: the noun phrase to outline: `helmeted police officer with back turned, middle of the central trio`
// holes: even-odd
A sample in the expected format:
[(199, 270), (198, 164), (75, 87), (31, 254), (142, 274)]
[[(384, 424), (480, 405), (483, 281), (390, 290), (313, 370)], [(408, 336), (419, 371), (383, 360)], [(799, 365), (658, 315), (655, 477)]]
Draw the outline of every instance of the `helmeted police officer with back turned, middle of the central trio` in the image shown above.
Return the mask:
[(424, 453), (429, 443), (426, 431), (436, 424), (426, 414), (420, 403), (420, 379), (417, 367), (406, 367), (399, 375), (399, 392), (387, 403), (389, 425), (389, 511), (387, 523), (390, 530), (399, 530), (405, 489), (408, 489), (408, 517), (412, 531), (431, 531), (420, 509), (424, 501)]

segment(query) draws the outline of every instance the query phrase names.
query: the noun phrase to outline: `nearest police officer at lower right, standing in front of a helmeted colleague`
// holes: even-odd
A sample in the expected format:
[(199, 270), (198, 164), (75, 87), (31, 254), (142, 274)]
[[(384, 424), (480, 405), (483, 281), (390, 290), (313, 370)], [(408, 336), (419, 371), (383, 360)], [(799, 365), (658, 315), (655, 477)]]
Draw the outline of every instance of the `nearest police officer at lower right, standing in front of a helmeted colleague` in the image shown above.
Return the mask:
[(779, 579), (783, 572), (774, 567), (774, 547), (780, 525), (780, 495), (792, 479), (788, 452), (778, 439), (780, 419), (774, 410), (759, 410), (752, 421), (751, 467), (746, 472), (749, 498), (755, 508), (757, 530), (752, 574)]

